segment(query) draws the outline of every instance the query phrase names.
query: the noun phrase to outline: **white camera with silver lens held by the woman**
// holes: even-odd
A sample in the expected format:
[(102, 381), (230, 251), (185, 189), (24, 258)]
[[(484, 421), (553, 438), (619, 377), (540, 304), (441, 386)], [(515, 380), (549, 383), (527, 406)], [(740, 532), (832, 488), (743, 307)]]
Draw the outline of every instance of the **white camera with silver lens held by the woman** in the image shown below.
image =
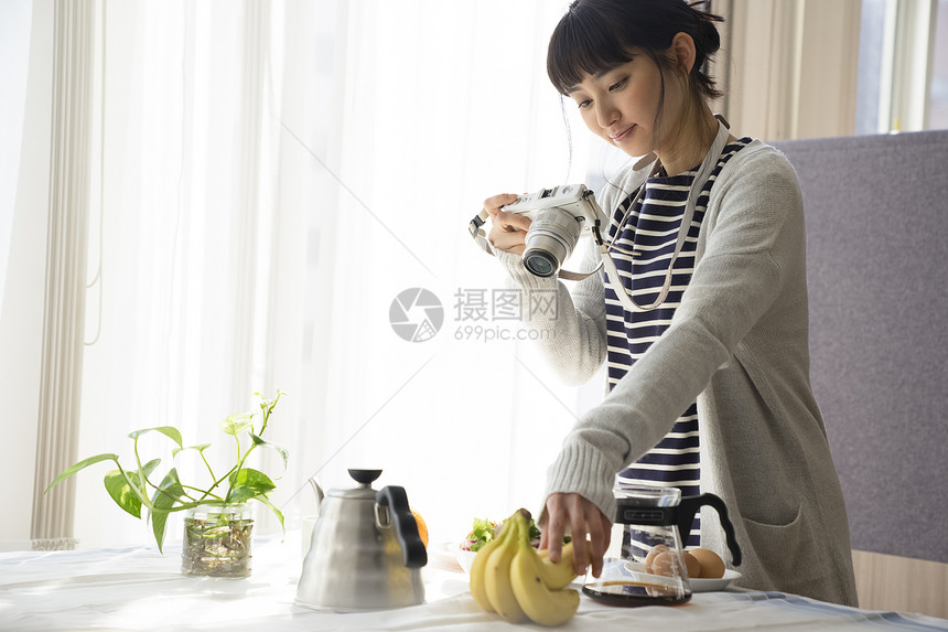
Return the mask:
[(531, 221), (524, 250), (524, 267), (538, 277), (556, 275), (575, 248), (583, 233), (596, 236), (605, 215), (593, 192), (583, 184), (563, 184), (520, 195), (504, 206)]

